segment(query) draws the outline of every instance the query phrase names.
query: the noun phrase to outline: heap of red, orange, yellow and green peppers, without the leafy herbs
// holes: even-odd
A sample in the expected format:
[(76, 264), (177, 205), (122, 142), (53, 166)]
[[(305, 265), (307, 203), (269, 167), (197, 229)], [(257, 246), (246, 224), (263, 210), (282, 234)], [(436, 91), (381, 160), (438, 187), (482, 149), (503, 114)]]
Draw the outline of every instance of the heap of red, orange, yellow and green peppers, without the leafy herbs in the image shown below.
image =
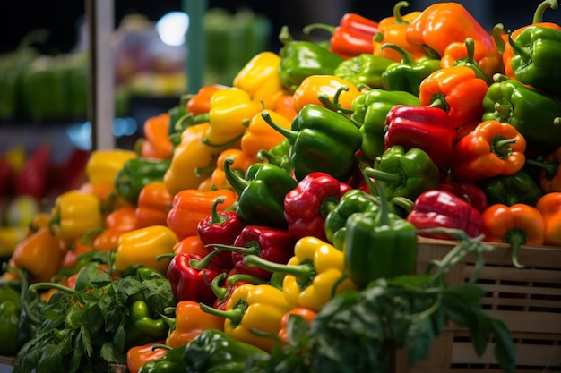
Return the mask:
[[(131, 372), (195, 371), (224, 350), (232, 361), (205, 369), (241, 372), (286, 344), (295, 309), (312, 319), (412, 274), (419, 236), (453, 238), (430, 228), (505, 242), (521, 270), (521, 245), (560, 247), (561, 26), (541, 21), (557, 1), (491, 31), (461, 4), (408, 5), (310, 25), (321, 42), (283, 28), (278, 54), (150, 118), (135, 151), (92, 152), (88, 180), (30, 228), (2, 281), (63, 284), (109, 251), (109, 273), (149, 268), (177, 302), (176, 318), (131, 312), (154, 331), (127, 339)], [(12, 298), (1, 309), (22, 308)]]

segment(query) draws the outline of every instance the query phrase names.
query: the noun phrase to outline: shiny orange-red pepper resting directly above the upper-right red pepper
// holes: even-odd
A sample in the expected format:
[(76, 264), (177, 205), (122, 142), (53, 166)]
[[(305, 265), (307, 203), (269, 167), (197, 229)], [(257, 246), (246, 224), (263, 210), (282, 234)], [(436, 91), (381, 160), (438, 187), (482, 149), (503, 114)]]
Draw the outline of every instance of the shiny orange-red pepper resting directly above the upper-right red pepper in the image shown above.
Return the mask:
[(455, 128), (480, 120), (487, 82), (468, 66), (453, 66), (431, 73), (419, 85), (422, 105), (439, 105), (446, 110)]

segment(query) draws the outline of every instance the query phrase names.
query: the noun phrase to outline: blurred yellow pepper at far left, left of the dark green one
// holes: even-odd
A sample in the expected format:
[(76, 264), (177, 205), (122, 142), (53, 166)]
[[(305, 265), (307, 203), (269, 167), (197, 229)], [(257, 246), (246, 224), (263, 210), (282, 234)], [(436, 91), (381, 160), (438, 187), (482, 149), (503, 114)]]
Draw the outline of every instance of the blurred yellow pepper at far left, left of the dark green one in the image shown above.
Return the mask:
[(138, 157), (133, 150), (108, 149), (94, 150), (86, 163), (86, 177), (88, 182), (113, 183), (126, 161)]

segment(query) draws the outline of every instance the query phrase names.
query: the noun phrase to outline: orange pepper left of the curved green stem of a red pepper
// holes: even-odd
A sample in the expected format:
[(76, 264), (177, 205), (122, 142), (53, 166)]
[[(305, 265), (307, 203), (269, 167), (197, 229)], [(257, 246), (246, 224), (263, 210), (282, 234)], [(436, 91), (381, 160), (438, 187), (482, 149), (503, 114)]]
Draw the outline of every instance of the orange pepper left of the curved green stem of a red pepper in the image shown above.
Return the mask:
[(206, 216), (211, 215), (212, 204), (219, 198), (224, 200), (218, 207), (222, 211), (236, 202), (237, 195), (235, 191), (229, 189), (216, 191), (186, 189), (177, 192), (168, 212), (168, 227), (177, 234), (179, 240), (196, 234), (197, 225)]

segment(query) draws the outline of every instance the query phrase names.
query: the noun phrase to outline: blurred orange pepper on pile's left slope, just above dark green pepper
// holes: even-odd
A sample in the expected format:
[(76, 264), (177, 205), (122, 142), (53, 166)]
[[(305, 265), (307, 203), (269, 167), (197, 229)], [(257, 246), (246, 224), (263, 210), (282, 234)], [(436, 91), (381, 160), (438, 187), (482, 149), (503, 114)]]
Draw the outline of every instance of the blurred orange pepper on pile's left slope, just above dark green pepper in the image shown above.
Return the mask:
[(172, 143), (168, 137), (169, 114), (161, 113), (146, 119), (143, 125), (144, 139), (141, 156), (157, 159), (171, 158)]

